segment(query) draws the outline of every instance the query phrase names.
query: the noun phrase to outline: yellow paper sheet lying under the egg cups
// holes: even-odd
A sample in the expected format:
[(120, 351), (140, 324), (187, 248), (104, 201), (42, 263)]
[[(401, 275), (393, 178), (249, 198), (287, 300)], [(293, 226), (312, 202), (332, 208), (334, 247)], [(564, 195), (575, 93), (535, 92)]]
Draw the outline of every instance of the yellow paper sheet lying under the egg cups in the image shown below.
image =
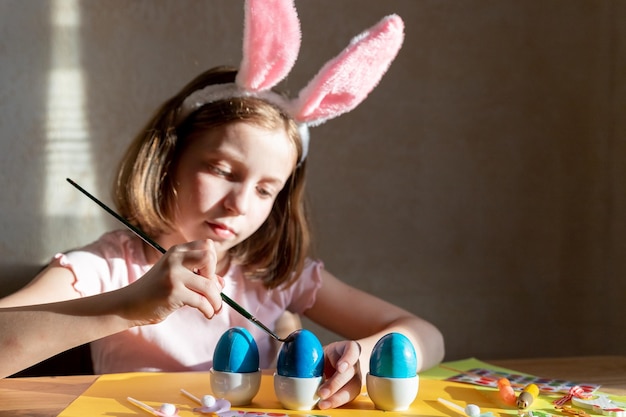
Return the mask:
[[(273, 377), (271, 373), (263, 375), (261, 389), (252, 404), (246, 407), (234, 407), (244, 411), (262, 411), (266, 413), (282, 413), (289, 416), (317, 415), (317, 416), (423, 416), (423, 417), (460, 417), (460, 414), (445, 405), (437, 402), (438, 397), (450, 400), (461, 407), (467, 404), (476, 404), (481, 412), (491, 411), (496, 417), (517, 416), (516, 409), (502, 408), (496, 390), (464, 383), (445, 381), (456, 372), (448, 368), (469, 370), (485, 368), (503, 370), (476, 359), (448, 362), (444, 367), (435, 367), (427, 372), (420, 373), (420, 386), (417, 398), (410, 409), (403, 412), (383, 412), (376, 410), (373, 403), (363, 394), (352, 403), (334, 410), (288, 411), (282, 408), (274, 394)], [(110, 374), (99, 377), (79, 398), (70, 404), (61, 414), (61, 417), (84, 416), (149, 416), (150, 414), (137, 408), (127, 401), (133, 397), (154, 408), (163, 403), (171, 403), (178, 407), (179, 415), (200, 416), (194, 413), (197, 403), (181, 394), (185, 389), (201, 398), (211, 394), (208, 372), (194, 373), (126, 373)], [(551, 401), (557, 397), (541, 396), (532, 405), (531, 409), (554, 413)], [(616, 398), (617, 399), (617, 398)], [(626, 401), (626, 398), (622, 399)]]

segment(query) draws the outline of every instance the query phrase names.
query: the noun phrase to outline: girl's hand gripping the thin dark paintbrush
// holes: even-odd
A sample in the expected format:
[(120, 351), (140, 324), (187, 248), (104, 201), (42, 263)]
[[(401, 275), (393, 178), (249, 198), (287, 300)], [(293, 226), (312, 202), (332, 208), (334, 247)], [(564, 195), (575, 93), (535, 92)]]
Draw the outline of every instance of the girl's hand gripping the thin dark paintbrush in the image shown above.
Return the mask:
[(187, 305), (212, 318), (222, 308), (224, 287), (216, 265), (211, 240), (173, 246), (141, 279), (119, 290), (122, 315), (140, 326), (161, 322)]

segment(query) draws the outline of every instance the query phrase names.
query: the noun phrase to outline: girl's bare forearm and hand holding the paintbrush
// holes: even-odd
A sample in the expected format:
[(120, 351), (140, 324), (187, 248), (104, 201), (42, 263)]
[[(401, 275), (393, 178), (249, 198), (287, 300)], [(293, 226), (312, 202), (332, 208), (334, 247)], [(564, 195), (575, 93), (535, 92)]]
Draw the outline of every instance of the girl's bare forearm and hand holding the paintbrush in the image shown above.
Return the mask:
[(221, 308), (223, 286), (215, 264), (211, 241), (191, 242), (173, 247), (140, 280), (119, 290), (0, 308), (0, 352), (11, 358), (0, 361), (0, 378), (71, 347), (158, 323), (183, 305), (213, 317)]

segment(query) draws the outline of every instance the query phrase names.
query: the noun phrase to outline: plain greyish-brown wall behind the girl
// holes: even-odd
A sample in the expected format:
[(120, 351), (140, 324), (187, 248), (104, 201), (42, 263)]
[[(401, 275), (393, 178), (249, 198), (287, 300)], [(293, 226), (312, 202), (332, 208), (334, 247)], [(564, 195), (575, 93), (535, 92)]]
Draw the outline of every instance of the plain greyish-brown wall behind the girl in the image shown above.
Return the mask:
[[(241, 56), (241, 1), (79, 1), (51, 19), (72, 4), (0, 0), (4, 293), (114, 224), (65, 177), (110, 201), (150, 112)], [(438, 325), (447, 359), (626, 354), (626, 2), (297, 7), (292, 92), (382, 16), (407, 26), (371, 96), (312, 131), (328, 269)]]

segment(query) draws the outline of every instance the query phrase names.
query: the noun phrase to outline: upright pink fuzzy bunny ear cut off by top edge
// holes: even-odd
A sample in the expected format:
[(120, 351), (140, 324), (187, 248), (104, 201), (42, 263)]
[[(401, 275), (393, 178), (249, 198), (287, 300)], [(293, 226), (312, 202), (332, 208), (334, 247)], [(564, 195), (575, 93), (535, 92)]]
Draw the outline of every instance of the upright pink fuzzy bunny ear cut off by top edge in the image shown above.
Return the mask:
[(236, 83), (269, 90), (289, 74), (300, 51), (300, 21), (293, 0), (246, 0), (243, 59)]

